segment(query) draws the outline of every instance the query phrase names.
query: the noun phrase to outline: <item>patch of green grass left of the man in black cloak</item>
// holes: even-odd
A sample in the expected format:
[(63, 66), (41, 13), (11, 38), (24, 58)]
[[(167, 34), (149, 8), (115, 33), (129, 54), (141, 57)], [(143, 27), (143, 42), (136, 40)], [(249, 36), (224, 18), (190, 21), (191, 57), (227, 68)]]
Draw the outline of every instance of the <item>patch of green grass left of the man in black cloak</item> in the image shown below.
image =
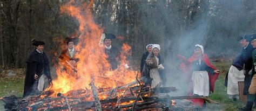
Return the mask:
[(22, 96), (24, 80), (24, 78), (0, 78), (0, 96)]

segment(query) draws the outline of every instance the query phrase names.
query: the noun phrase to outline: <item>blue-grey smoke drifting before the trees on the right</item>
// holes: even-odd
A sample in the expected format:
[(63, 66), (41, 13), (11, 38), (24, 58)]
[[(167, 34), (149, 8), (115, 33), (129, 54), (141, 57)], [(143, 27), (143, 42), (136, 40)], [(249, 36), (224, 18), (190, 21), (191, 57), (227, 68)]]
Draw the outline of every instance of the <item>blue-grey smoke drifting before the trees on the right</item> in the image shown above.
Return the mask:
[[(234, 57), (241, 50), (237, 38), (241, 34), (255, 33), (255, 25), (252, 23), (255, 21), (252, 15), (255, 11), (252, 11), (254, 8), (248, 5), (248, 1), (194, 2), (197, 3), (191, 2), (186, 5), (188, 13), (179, 15), (187, 19), (174, 18), (177, 15), (169, 15), (164, 19), (166, 24), (171, 24), (166, 26), (169, 33), (167, 32), (165, 42), (162, 43), (165, 45), (167, 86), (176, 86), (180, 92), (185, 91), (187, 86), (176, 54), (189, 58), (193, 54), (194, 46), (200, 44), (204, 46), (205, 53), (210, 59), (220, 56)], [(166, 12), (164, 8), (160, 10)], [(180, 23), (179, 20), (183, 21)]]

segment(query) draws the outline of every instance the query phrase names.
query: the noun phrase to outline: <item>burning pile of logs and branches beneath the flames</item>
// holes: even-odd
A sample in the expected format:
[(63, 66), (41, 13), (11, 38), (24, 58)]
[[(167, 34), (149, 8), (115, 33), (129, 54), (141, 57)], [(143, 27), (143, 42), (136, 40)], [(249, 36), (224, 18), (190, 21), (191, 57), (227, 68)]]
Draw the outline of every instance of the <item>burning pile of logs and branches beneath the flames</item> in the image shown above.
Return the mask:
[[(204, 97), (169, 96), (163, 93), (176, 91), (175, 87), (158, 87), (151, 89), (134, 81), (116, 88), (96, 88), (92, 79), (91, 89), (78, 89), (66, 94), (52, 96), (52, 91), (40, 95), (17, 98), (4, 97), (5, 108), (11, 110), (194, 110), (198, 107), (191, 101), (182, 99), (200, 98), (210, 103), (217, 103)], [(99, 99), (104, 97), (104, 99)], [(93, 98), (93, 99), (92, 99)], [(176, 103), (177, 100), (179, 102)]]

